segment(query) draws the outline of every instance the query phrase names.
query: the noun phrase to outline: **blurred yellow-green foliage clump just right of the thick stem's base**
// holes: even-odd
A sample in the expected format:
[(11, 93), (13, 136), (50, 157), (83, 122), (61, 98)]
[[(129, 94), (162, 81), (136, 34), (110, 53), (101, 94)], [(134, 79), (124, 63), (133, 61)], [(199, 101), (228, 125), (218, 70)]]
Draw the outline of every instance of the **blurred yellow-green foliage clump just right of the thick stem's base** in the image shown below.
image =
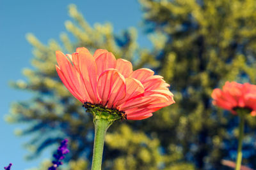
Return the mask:
[[(107, 134), (106, 144), (120, 154), (113, 160), (104, 162), (105, 165), (113, 161), (109, 169), (194, 169), (191, 164), (179, 162), (182, 152), (179, 147), (170, 145), (170, 154), (159, 152), (160, 141), (156, 135), (149, 138), (143, 131), (132, 131), (132, 127), (122, 124), (112, 134)], [(106, 166), (107, 167), (107, 166)]]

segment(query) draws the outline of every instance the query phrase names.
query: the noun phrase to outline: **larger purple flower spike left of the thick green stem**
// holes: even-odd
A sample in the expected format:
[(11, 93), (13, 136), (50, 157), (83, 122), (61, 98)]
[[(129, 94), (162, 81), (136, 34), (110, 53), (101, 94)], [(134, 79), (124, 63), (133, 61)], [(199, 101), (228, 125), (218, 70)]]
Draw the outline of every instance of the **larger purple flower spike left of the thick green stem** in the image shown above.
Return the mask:
[(53, 157), (55, 158), (55, 160), (52, 161), (53, 165), (49, 167), (48, 170), (56, 170), (57, 167), (63, 164), (61, 160), (64, 159), (65, 154), (69, 152), (67, 146), (68, 146), (68, 139), (64, 139), (63, 141), (61, 141), (61, 145), (58, 148), (57, 153), (53, 155)]

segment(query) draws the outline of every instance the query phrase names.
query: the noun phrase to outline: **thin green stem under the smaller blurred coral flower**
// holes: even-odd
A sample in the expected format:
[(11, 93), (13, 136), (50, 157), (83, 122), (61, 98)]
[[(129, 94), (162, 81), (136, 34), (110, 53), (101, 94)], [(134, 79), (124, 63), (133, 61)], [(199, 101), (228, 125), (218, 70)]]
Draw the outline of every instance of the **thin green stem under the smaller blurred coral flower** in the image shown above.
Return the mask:
[(242, 144), (243, 144), (243, 136), (244, 136), (244, 115), (239, 114), (240, 122), (239, 122), (239, 139), (238, 139), (238, 148), (237, 148), (237, 159), (236, 159), (236, 170), (240, 170), (241, 162), (242, 162)]

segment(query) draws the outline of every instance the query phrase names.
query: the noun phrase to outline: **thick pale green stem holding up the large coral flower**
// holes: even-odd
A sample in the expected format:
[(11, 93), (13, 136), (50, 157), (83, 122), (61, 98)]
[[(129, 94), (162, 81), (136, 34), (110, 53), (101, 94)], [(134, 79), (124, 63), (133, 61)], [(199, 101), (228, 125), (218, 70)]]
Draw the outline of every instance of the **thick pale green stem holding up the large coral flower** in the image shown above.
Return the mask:
[(95, 136), (93, 145), (93, 158), (92, 158), (92, 170), (100, 170), (102, 163), (102, 153), (104, 148), (104, 139), (108, 127), (112, 124), (106, 119), (96, 119)]

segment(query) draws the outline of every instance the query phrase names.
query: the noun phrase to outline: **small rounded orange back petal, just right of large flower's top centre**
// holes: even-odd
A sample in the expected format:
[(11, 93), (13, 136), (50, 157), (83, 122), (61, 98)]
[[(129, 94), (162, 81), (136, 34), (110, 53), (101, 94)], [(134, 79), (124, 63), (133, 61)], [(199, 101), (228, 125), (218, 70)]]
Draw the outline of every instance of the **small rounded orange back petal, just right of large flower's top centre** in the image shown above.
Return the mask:
[(132, 73), (132, 64), (131, 62), (124, 59), (116, 60), (116, 69), (121, 73), (125, 78), (127, 78)]

